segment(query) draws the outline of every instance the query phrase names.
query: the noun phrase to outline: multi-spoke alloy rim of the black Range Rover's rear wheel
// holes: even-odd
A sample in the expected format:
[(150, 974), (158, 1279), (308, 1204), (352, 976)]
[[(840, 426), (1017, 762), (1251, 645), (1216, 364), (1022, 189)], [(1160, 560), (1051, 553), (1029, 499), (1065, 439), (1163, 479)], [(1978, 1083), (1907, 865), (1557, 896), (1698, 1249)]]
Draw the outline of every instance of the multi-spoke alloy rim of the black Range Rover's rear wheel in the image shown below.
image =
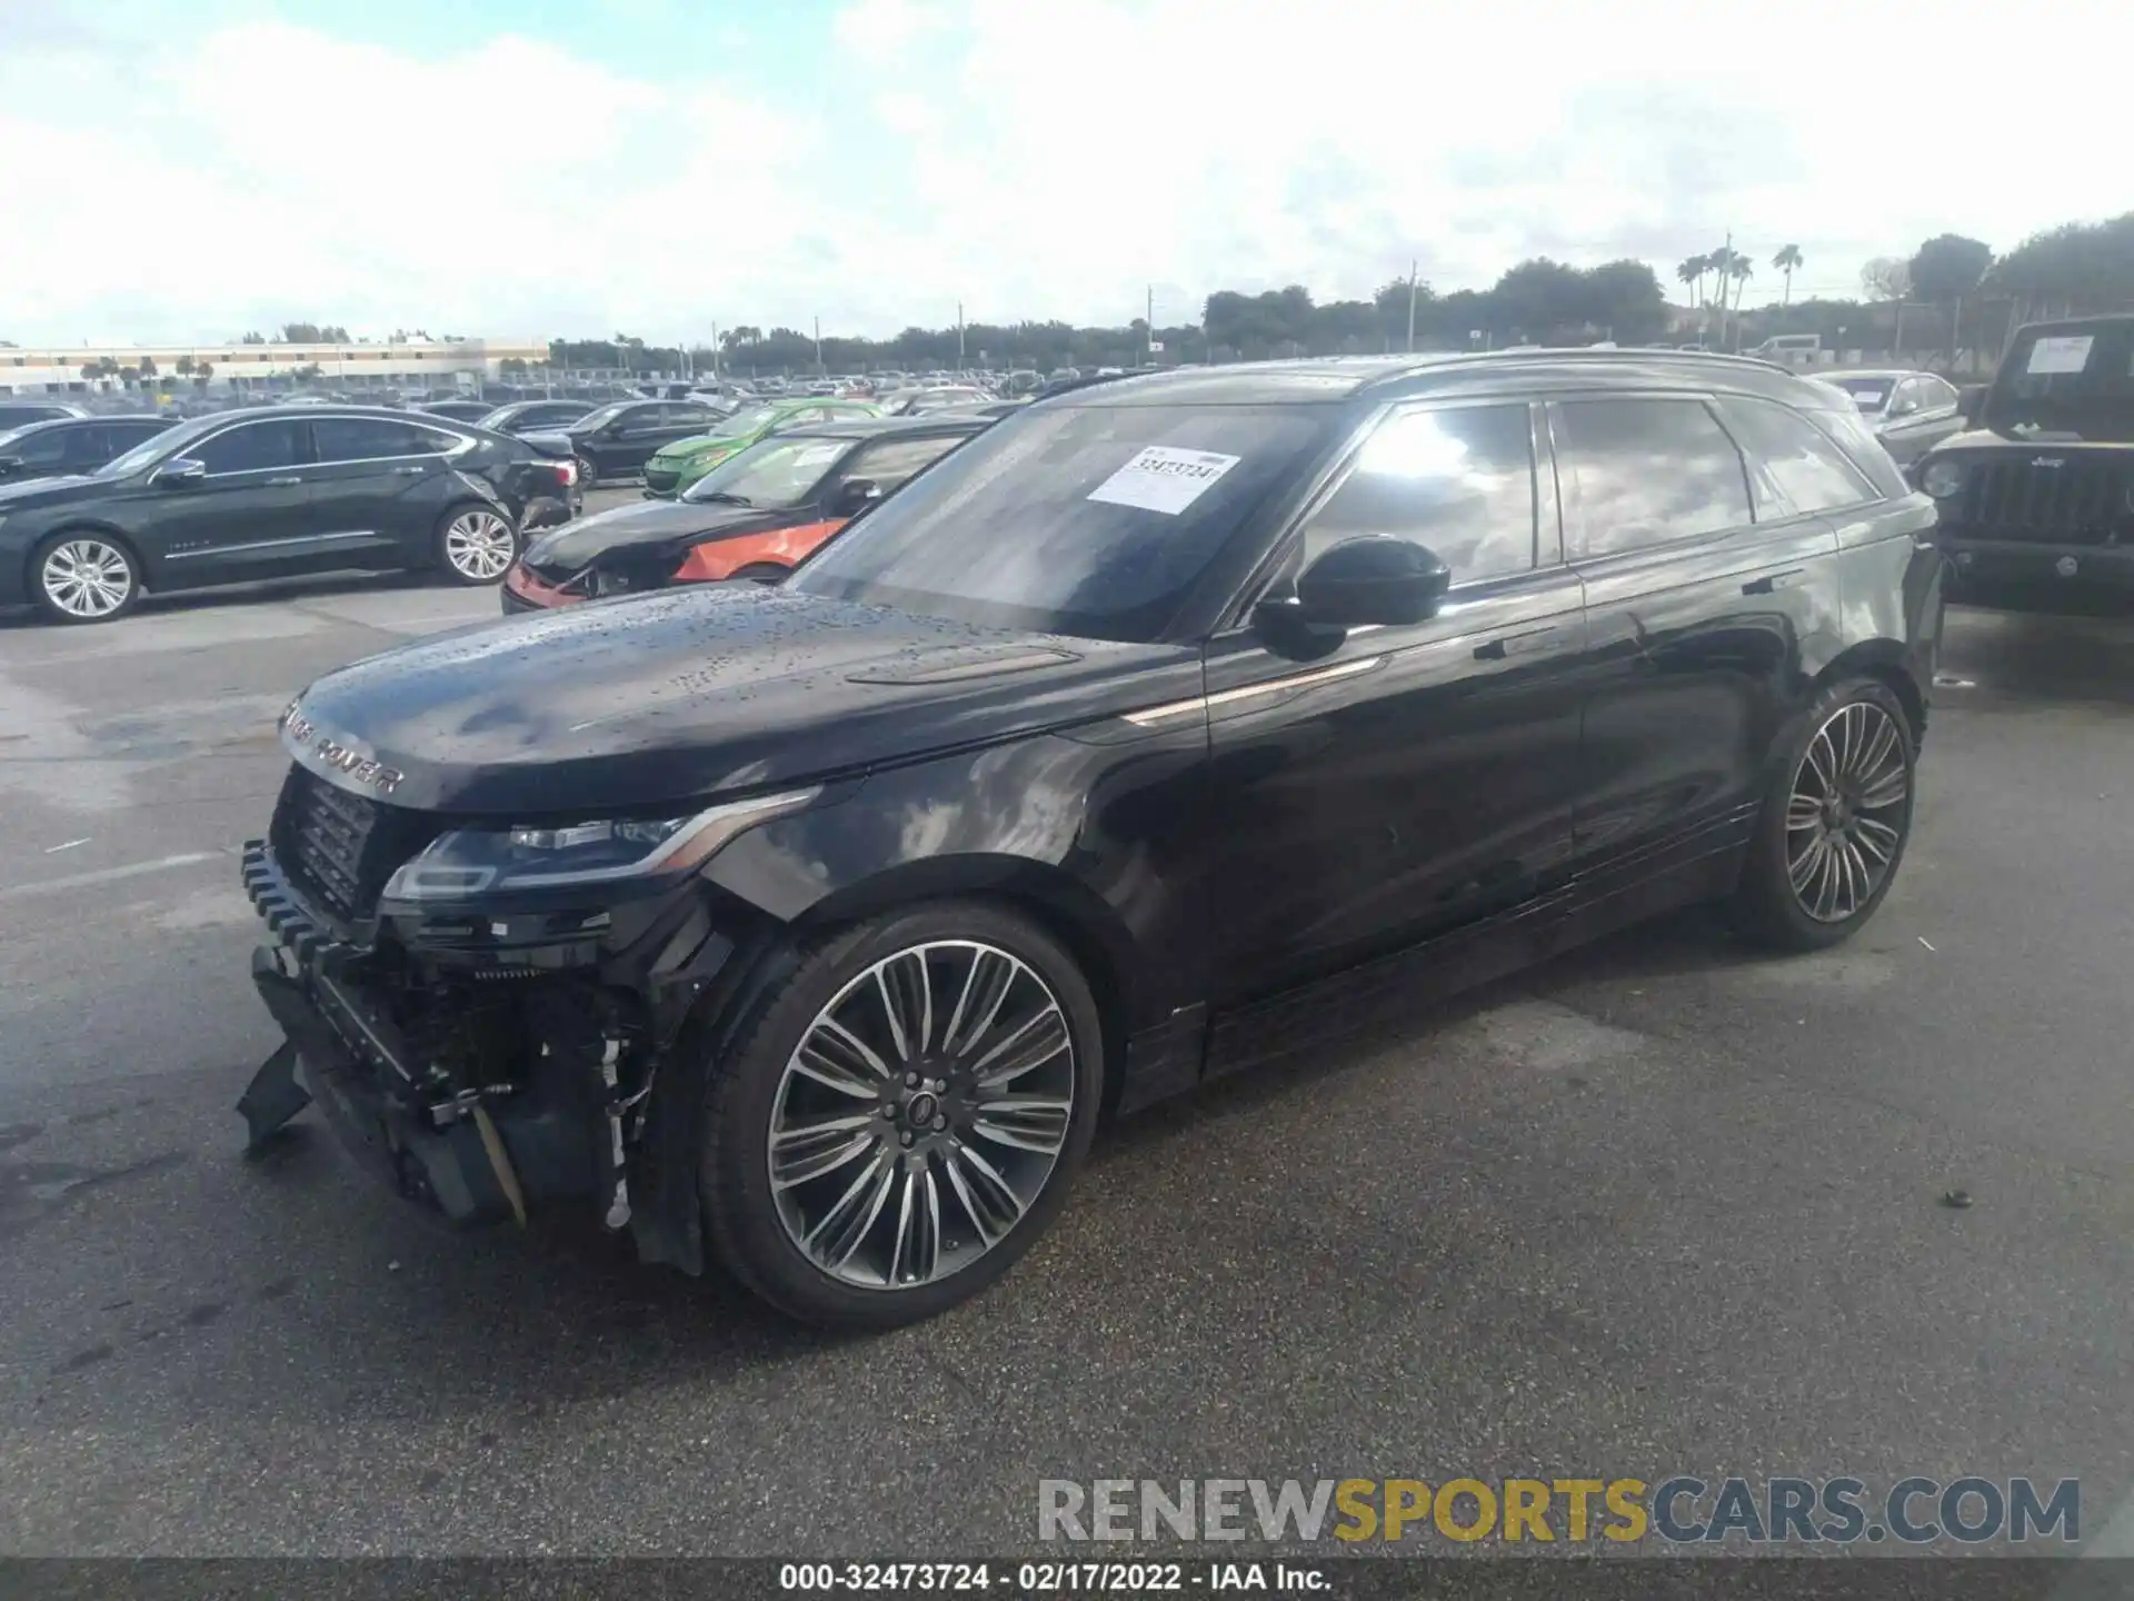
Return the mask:
[(1835, 711), (1793, 775), (1786, 879), (1816, 922), (1846, 922), (1897, 865), (1912, 775), (1897, 719), (1869, 700)]

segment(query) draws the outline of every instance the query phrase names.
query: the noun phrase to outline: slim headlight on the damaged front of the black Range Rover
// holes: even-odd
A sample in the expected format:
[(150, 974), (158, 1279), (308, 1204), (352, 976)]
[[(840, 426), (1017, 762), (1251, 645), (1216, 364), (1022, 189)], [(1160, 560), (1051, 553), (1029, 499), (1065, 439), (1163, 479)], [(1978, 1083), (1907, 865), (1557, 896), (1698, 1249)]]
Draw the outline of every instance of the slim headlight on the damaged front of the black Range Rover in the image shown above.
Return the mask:
[(817, 794), (819, 786), (647, 822), (455, 828), (386, 882), (386, 899), (463, 901), (491, 890), (551, 890), (679, 875), (749, 828), (800, 811)]

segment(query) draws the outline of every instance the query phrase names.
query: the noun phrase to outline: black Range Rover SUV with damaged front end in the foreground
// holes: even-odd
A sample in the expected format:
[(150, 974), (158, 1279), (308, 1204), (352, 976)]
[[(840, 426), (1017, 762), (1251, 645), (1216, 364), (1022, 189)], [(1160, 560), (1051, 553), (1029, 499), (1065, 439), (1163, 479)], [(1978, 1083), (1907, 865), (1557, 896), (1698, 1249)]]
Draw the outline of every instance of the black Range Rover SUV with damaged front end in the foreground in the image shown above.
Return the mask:
[(1859, 929), (1931, 534), (1848, 399), (1746, 359), (1039, 401), (777, 589), (309, 685), (243, 856), (288, 1040), (241, 1110), (309, 1089), (459, 1221), (593, 1208), (798, 1317), (937, 1313), (1103, 1110), (1686, 901)]

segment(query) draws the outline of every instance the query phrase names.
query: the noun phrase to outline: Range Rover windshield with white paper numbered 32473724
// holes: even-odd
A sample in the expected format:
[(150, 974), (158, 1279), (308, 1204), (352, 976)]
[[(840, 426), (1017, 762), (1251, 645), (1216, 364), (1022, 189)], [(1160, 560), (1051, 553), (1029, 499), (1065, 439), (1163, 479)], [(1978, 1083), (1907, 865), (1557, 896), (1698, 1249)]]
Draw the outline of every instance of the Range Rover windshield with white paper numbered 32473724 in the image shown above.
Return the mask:
[(994, 628), (1152, 640), (1332, 408), (1022, 412), (805, 564), (805, 593)]

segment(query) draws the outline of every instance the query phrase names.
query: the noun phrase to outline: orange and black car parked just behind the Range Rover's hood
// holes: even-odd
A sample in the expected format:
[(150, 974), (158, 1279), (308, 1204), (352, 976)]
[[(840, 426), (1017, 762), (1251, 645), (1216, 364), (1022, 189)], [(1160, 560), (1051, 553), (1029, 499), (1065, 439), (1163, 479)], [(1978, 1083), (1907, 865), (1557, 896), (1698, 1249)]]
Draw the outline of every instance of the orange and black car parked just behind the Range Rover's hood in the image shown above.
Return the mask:
[(992, 418), (869, 416), (779, 433), (721, 461), (681, 500), (568, 523), (504, 574), (504, 611), (542, 611), (674, 583), (775, 583), (858, 512)]

